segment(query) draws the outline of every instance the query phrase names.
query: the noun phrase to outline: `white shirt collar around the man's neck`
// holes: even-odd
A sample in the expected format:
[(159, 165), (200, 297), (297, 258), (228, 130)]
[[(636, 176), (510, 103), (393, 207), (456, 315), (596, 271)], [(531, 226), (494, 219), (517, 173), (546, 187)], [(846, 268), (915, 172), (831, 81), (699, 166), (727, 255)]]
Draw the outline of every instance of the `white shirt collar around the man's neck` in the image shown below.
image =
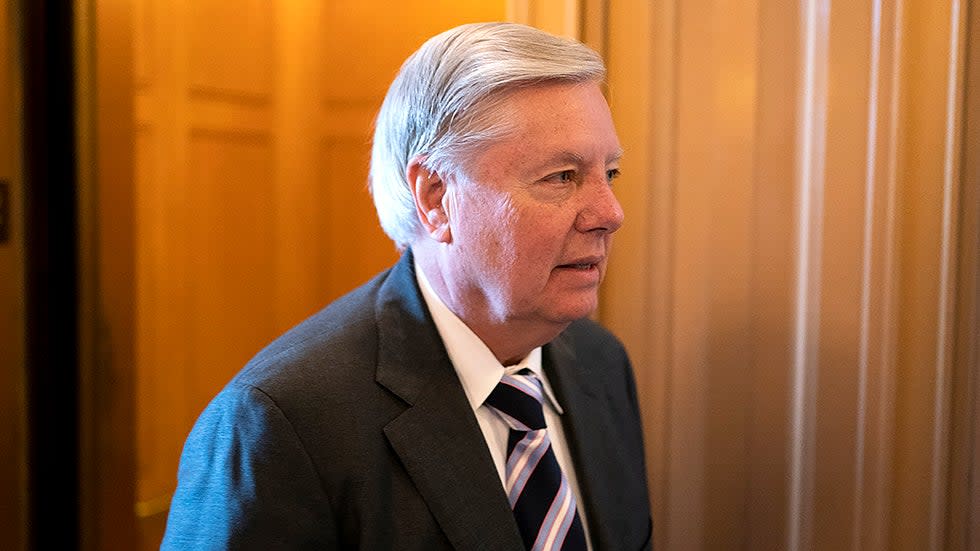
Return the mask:
[(551, 384), (541, 367), (540, 346), (532, 350), (516, 365), (504, 367), (487, 345), (480, 340), (480, 337), (467, 327), (463, 320), (459, 319), (439, 298), (425, 277), (425, 273), (419, 267), (417, 260), (415, 261), (415, 275), (418, 279), (419, 289), (422, 291), (422, 298), (425, 299), (432, 320), (436, 324), (436, 330), (442, 338), (446, 352), (448, 352), (449, 359), (456, 369), (456, 374), (463, 384), (463, 391), (466, 393), (466, 398), (469, 400), (473, 411), (483, 405), (483, 402), (490, 396), (504, 374), (516, 373), (526, 368), (530, 369), (541, 380), (544, 394), (548, 397), (547, 401), (551, 407), (557, 413), (563, 413), (561, 405), (551, 389)]

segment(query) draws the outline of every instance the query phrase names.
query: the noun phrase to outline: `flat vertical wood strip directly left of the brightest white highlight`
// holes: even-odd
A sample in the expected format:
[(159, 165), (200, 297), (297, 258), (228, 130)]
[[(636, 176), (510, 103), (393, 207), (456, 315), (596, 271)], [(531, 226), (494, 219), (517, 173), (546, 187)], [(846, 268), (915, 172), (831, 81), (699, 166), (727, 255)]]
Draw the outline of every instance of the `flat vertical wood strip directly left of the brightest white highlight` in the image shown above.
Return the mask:
[[(759, 2), (759, 68), (755, 192), (753, 196), (751, 331), (752, 401), (747, 405), (749, 482), (745, 549), (788, 549), (791, 488), (787, 416), (794, 383), (794, 299), (798, 250), (798, 192), (789, 182), (801, 166), (789, 143), (803, 86), (798, 60), (798, 6)], [(792, 136), (792, 138), (791, 138)], [(767, 144), (762, 147), (759, 144)], [(780, 145), (781, 144), (781, 145)]]

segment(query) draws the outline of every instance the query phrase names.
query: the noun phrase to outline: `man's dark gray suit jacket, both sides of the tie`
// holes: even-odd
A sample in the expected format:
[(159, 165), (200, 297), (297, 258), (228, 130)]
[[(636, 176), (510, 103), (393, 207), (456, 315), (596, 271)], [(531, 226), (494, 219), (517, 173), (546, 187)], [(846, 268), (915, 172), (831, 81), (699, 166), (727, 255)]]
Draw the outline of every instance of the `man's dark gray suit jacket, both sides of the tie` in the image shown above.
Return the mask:
[[(593, 547), (648, 549), (629, 360), (597, 324), (543, 350)], [(260, 352), (184, 446), (163, 549), (519, 550), (411, 254)]]

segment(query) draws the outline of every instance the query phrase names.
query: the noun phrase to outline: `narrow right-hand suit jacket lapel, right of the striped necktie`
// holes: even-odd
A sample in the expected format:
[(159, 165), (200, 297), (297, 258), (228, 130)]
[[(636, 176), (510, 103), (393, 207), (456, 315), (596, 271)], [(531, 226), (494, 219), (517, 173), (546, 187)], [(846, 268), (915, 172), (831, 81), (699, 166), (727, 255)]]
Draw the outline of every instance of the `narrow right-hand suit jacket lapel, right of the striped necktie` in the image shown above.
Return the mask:
[(618, 486), (610, 482), (608, 466), (617, 464), (609, 457), (616, 443), (603, 429), (612, 421), (608, 419), (608, 408), (600, 402), (601, 389), (595, 388), (596, 378), (589, 377), (591, 367), (577, 362), (575, 349), (564, 334), (544, 348), (543, 368), (564, 410), (562, 427), (585, 501), (593, 549), (614, 549), (616, 538), (610, 530), (615, 530), (612, 517), (616, 496), (610, 491)]

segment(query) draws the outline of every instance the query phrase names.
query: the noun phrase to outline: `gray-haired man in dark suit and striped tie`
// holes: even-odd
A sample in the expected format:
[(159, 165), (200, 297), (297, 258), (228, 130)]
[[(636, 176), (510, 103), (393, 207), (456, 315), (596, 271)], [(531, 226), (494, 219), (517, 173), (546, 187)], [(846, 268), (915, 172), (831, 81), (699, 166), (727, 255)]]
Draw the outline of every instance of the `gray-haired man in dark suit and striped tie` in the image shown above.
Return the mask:
[(188, 437), (165, 549), (645, 549), (639, 411), (587, 319), (623, 221), (585, 46), (430, 39), (378, 115), (404, 251), (256, 356)]

